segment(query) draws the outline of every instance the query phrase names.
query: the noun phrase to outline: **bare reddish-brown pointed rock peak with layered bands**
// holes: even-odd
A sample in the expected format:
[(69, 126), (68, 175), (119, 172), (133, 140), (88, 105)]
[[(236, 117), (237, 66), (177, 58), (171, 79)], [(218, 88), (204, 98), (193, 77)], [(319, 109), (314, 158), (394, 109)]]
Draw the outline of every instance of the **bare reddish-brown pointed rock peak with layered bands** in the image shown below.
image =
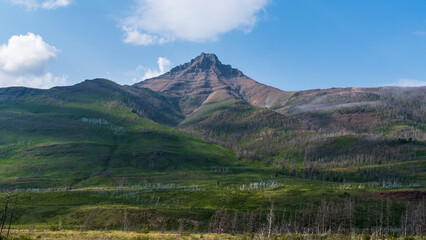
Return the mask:
[(206, 53), (136, 86), (178, 96), (184, 114), (193, 112), (206, 100), (218, 98), (241, 99), (254, 106), (268, 107), (283, 93), (254, 81), (230, 65), (222, 64), (216, 55)]

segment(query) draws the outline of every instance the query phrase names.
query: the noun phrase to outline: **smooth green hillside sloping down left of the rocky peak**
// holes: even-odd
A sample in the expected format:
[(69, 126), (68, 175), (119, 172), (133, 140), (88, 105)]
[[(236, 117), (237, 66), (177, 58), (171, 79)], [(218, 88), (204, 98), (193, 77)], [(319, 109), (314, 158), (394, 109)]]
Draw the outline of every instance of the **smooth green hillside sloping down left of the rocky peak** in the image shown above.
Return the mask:
[(208, 171), (235, 162), (231, 150), (140, 117), (173, 124), (169, 98), (126, 90), (105, 80), (2, 89), (0, 188), (139, 183), (148, 171)]

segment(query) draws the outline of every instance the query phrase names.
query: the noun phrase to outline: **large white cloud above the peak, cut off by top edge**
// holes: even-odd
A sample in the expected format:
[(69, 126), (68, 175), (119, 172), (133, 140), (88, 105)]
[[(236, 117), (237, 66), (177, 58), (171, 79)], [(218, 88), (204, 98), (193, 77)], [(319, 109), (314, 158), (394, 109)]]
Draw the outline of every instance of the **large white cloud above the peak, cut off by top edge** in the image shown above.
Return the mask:
[(124, 42), (163, 44), (217, 40), (232, 30), (250, 32), (270, 0), (136, 0), (122, 25)]

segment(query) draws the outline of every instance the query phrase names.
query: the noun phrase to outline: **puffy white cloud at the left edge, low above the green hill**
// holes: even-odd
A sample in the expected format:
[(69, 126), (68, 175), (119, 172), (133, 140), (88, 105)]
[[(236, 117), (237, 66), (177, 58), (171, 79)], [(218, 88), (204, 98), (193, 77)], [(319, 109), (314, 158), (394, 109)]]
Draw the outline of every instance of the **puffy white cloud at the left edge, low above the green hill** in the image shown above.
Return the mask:
[(59, 50), (33, 33), (14, 35), (0, 46), (0, 87), (25, 86), (50, 88), (66, 83), (66, 76), (55, 77), (46, 71)]

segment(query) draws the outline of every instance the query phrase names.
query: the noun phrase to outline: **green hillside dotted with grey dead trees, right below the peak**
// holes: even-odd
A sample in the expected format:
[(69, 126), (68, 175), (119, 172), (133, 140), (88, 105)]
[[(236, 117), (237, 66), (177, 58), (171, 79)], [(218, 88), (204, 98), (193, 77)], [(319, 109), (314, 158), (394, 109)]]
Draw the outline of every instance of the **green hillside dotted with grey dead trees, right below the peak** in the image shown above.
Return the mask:
[[(318, 95), (324, 99), (324, 93)], [(359, 103), (366, 95), (361, 92), (334, 99)], [(307, 97), (295, 95), (288, 104), (292, 108), (307, 105), (304, 99)], [(317, 100), (310, 96), (309, 101)], [(202, 105), (179, 128), (232, 147), (240, 158), (266, 162), (285, 175), (334, 182), (423, 185), (425, 118), (410, 116), (419, 116), (417, 109), (424, 111), (424, 102), (410, 101), (405, 113), (400, 113), (400, 101), (396, 106), (388, 107), (390, 104), (389, 100), (362, 107), (329, 103), (326, 110), (311, 107), (279, 114), (230, 100)]]

